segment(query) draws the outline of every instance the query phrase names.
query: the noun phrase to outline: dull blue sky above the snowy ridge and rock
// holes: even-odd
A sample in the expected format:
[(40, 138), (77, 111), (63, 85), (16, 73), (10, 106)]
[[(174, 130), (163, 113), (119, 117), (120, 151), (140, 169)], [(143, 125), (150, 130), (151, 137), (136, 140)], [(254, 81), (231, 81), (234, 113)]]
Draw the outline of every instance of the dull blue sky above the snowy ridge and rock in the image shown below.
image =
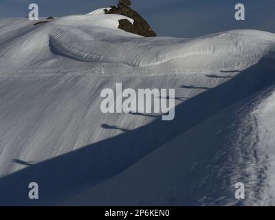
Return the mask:
[[(41, 17), (84, 14), (118, 0), (0, 0), (0, 17), (26, 17), (30, 3)], [(275, 32), (275, 0), (132, 0), (159, 36), (194, 37), (250, 28)], [(245, 21), (235, 21), (234, 5), (245, 5)]]

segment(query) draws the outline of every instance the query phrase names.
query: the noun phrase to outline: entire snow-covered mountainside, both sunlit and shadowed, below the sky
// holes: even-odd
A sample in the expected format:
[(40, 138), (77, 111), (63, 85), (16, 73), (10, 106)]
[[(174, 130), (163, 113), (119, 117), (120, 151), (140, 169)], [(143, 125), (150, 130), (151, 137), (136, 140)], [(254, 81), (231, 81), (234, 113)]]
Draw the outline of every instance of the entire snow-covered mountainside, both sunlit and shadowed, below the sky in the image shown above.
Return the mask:
[[(275, 205), (275, 34), (144, 38), (120, 19), (0, 19), (0, 205)], [(175, 89), (175, 119), (102, 113), (115, 83)]]

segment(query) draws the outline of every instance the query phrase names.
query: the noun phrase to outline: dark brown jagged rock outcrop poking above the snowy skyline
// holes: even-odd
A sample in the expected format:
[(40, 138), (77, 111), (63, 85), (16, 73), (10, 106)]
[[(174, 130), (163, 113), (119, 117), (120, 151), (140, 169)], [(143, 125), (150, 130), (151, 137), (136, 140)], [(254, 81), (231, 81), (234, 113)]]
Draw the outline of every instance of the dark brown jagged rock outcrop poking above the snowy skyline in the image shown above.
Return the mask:
[(130, 0), (119, 0), (118, 7), (112, 7), (106, 14), (121, 14), (134, 20), (133, 24), (127, 19), (122, 19), (119, 21), (119, 26), (121, 30), (126, 32), (131, 32), (133, 34), (138, 34), (141, 36), (157, 36), (155, 32), (151, 29), (150, 25), (134, 10), (130, 8)]

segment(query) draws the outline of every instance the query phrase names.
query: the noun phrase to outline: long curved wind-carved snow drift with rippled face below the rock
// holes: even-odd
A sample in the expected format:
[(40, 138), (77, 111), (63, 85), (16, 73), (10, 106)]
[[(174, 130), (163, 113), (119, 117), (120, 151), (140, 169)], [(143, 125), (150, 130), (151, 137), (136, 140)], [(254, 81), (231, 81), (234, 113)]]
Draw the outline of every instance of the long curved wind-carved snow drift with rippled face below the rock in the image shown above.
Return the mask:
[[(273, 34), (267, 34), (263, 39), (256, 39), (252, 31), (252, 34), (228, 32), (192, 40), (140, 38), (124, 36), (120, 32), (110, 35), (102, 33), (102, 28), (100, 31), (75, 28), (59, 31), (50, 35), (52, 50), (59, 54), (80, 61), (123, 63), (133, 67), (159, 65), (188, 56), (218, 55), (228, 57), (228, 62), (238, 60), (239, 67), (236, 68), (242, 69), (241, 65), (248, 67), (252, 60), (258, 62), (267, 54), (275, 38)], [(256, 44), (259, 40), (263, 41), (261, 45)]]

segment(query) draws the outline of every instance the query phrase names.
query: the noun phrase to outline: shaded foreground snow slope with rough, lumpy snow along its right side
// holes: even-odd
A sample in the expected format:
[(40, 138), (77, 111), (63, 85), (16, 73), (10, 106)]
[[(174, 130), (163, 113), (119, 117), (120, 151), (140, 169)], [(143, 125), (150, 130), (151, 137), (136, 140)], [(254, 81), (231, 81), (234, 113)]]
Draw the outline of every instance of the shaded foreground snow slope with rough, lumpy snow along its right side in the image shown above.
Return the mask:
[[(122, 173), (61, 204), (274, 206), (274, 108), (269, 108), (272, 115), (255, 112), (269, 99), (274, 105), (274, 94), (273, 86), (212, 115)], [(246, 187), (243, 201), (234, 198), (239, 181)]]

